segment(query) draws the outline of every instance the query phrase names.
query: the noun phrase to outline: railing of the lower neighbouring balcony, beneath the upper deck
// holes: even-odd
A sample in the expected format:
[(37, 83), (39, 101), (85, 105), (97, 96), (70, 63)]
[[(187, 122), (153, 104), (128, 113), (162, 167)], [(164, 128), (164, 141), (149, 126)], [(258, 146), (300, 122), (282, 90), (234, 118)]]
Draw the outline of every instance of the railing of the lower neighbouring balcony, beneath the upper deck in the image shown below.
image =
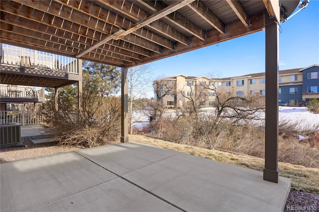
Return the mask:
[(42, 99), (43, 88), (0, 84), (0, 98)]

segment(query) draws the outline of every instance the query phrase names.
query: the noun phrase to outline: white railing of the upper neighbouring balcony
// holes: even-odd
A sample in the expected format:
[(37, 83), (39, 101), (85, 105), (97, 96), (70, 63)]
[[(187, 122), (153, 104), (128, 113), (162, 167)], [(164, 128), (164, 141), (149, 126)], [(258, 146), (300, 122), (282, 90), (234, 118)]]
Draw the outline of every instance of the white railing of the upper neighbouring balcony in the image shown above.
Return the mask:
[(0, 43), (1, 64), (79, 74), (76, 58)]

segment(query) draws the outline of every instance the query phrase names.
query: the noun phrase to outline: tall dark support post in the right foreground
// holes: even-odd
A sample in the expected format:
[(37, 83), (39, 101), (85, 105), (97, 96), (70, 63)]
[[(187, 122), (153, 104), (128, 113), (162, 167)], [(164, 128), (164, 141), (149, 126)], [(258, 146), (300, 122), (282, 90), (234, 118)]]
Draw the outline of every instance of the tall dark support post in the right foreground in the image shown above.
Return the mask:
[(275, 18), (266, 16), (266, 115), (264, 180), (278, 183), (278, 57), (279, 36)]

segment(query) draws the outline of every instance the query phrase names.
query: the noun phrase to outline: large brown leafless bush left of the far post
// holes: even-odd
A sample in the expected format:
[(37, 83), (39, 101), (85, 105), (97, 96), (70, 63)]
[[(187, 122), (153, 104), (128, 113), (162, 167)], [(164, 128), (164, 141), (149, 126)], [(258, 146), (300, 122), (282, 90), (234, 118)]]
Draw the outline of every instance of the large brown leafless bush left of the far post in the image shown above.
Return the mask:
[(117, 141), (121, 130), (121, 102), (115, 97), (81, 96), (79, 112), (69, 112), (63, 104), (56, 111), (51, 101), (41, 112), (45, 130), (62, 144), (94, 147)]

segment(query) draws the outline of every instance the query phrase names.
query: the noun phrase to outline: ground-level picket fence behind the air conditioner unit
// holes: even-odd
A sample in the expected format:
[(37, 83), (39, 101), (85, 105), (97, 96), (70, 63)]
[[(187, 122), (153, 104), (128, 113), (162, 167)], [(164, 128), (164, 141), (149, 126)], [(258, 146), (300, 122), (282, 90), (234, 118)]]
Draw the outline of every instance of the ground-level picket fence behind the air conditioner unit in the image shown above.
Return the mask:
[(5, 110), (1, 112), (1, 123), (43, 124), (44, 116), (34, 110)]

